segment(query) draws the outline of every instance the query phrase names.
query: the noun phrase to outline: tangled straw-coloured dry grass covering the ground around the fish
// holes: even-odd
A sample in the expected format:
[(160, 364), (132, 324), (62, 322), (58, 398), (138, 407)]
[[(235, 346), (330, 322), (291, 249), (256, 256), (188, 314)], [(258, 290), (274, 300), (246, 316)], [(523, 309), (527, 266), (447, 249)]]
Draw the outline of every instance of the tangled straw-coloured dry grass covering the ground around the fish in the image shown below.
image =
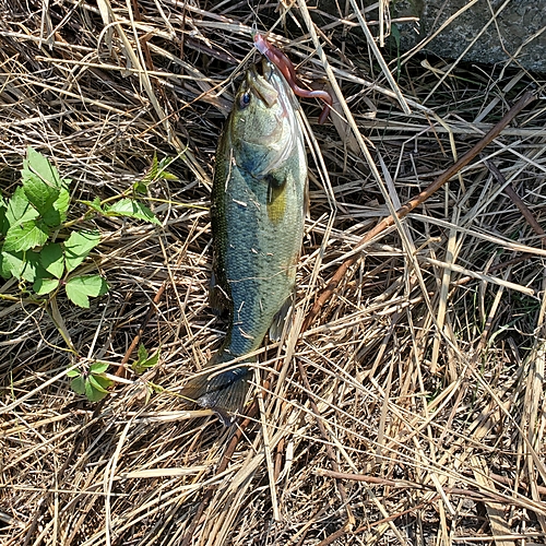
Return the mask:
[[(400, 73), (392, 55), (389, 81), (354, 15), (345, 26), (317, 12), (313, 26), (302, 1), (229, 5), (2, 5), (3, 193), (28, 144), (74, 180), (76, 199), (126, 190), (155, 152), (179, 155), (179, 180), (152, 188), (163, 228), (100, 221), (94, 261), (109, 295), (90, 311), (57, 301), (76, 356), (48, 312), (2, 304), (1, 543), (543, 544), (546, 253), (484, 159), (544, 226), (544, 100), (358, 250), (298, 332), (363, 235), (544, 82), (418, 55)], [(207, 307), (214, 147), (252, 25), (275, 23), (302, 78), (329, 79), (339, 116), (319, 127), (320, 105), (305, 105), (316, 162), (294, 325), (260, 355), (262, 380), (276, 371), (235, 446), (234, 429), (176, 393), (225, 329)], [(143, 335), (159, 365), (104, 404), (72, 393), (67, 367), (100, 358), (115, 371), (164, 283)], [(147, 400), (150, 382), (165, 390)]]

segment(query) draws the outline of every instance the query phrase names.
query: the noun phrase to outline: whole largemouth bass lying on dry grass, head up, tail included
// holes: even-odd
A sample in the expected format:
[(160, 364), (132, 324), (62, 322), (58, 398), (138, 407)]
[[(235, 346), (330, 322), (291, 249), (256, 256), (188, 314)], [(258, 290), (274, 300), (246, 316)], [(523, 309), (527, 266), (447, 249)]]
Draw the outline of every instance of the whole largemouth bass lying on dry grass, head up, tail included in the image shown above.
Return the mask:
[(283, 74), (263, 59), (261, 70), (247, 72), (216, 151), (211, 301), (227, 308), (229, 327), (207, 364), (215, 369), (190, 380), (181, 394), (226, 426), (247, 396), (256, 358), (246, 355), (282, 319), (294, 290), (307, 185), (298, 108)]

